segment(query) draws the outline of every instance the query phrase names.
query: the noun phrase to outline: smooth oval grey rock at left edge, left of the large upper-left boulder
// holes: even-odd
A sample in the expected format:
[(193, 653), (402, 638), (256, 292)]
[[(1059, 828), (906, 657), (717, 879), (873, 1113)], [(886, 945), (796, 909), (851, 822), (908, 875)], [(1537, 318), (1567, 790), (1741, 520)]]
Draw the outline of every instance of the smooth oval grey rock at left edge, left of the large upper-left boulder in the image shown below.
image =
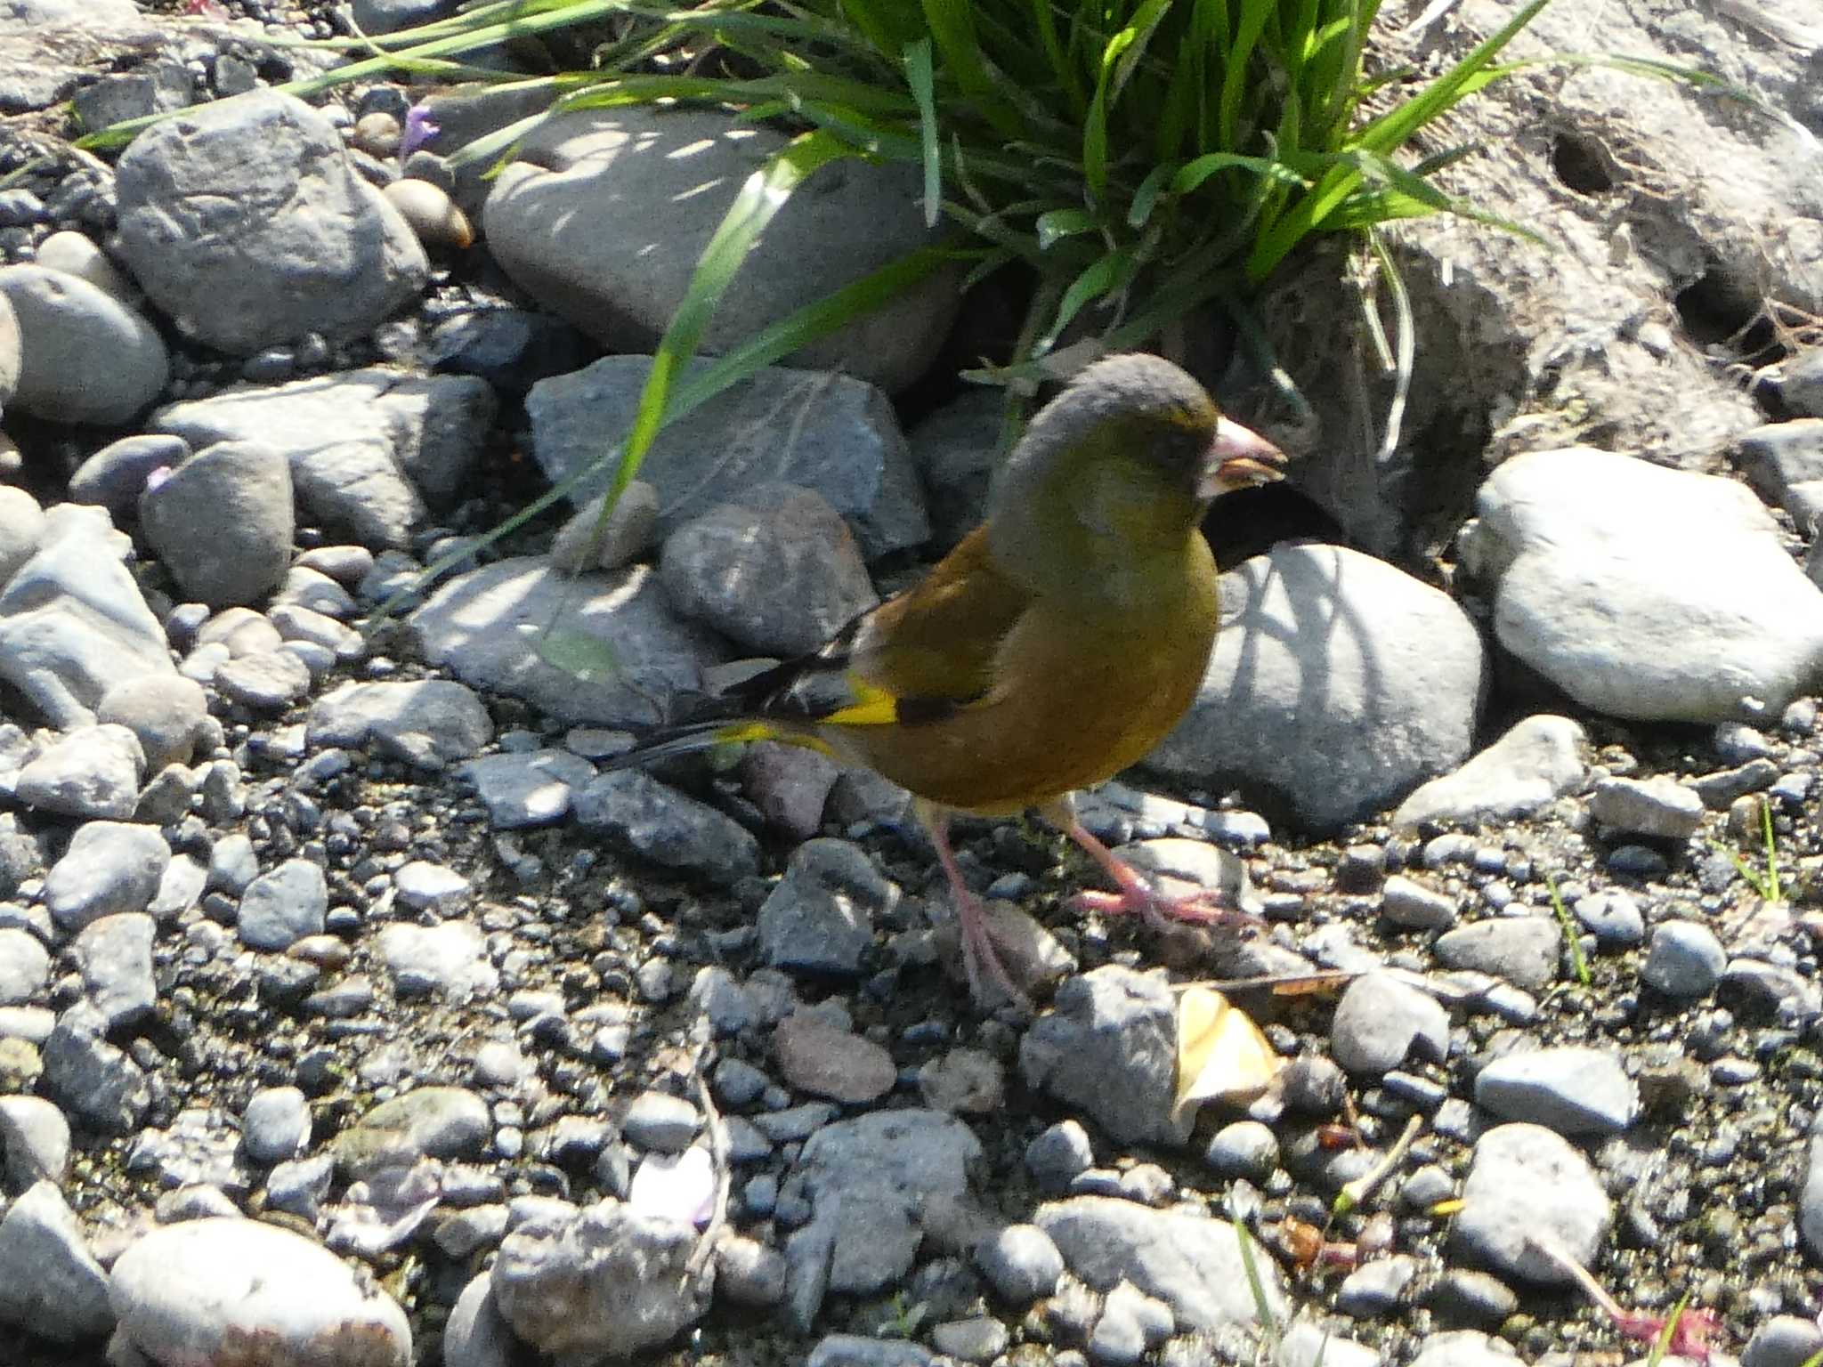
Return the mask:
[(53, 423), (128, 423), (170, 381), (159, 332), (88, 281), (44, 266), (0, 266), (0, 295), (26, 339), (9, 408)]

